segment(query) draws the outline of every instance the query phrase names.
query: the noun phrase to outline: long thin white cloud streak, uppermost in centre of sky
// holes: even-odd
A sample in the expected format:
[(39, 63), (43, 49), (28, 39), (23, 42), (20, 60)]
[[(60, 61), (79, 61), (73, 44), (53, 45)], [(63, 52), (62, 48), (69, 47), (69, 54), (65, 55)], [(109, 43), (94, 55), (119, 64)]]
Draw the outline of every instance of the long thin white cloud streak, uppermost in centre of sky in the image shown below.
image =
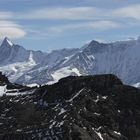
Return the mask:
[[(23, 14), (25, 19), (54, 19), (54, 20), (91, 20), (100, 10), (94, 7), (59, 7), (44, 8)], [(97, 17), (96, 17), (97, 18)]]

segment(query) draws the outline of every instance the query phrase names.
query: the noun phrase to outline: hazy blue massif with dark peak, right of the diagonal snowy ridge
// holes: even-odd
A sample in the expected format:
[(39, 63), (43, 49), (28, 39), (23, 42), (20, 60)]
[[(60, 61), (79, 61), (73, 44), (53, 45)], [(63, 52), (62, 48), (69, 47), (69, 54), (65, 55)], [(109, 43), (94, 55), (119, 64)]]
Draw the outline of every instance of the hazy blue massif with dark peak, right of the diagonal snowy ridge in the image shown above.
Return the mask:
[(76, 67), (82, 75), (115, 74), (126, 84), (140, 81), (140, 38), (114, 43), (92, 41), (64, 66)]

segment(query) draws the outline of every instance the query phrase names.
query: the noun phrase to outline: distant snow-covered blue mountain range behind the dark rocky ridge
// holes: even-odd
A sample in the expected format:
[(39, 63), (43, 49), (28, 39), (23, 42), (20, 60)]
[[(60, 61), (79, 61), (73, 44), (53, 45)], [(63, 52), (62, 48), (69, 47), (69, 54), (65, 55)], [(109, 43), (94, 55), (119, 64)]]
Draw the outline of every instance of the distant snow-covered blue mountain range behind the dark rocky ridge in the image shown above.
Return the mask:
[(0, 46), (0, 71), (19, 84), (52, 84), (73, 75), (115, 74), (125, 84), (140, 82), (140, 37), (50, 53), (26, 50), (7, 37)]

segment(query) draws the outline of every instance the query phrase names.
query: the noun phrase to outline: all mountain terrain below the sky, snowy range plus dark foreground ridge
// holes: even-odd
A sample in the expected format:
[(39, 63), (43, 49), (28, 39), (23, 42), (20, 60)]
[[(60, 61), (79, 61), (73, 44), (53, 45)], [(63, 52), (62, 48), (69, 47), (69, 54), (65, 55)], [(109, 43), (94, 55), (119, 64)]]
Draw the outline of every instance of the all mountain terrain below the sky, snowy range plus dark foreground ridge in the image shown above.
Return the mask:
[(50, 53), (5, 38), (0, 140), (139, 140), (139, 52), (140, 38)]

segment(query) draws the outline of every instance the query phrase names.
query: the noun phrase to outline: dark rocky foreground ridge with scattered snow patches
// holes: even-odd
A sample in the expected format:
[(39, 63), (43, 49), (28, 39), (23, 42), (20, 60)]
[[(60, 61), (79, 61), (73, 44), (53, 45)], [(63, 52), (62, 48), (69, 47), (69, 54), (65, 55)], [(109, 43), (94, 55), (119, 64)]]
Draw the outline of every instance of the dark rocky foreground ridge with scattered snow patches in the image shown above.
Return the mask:
[(3, 87), (0, 140), (140, 140), (140, 90), (114, 75), (29, 88), (0, 73)]

